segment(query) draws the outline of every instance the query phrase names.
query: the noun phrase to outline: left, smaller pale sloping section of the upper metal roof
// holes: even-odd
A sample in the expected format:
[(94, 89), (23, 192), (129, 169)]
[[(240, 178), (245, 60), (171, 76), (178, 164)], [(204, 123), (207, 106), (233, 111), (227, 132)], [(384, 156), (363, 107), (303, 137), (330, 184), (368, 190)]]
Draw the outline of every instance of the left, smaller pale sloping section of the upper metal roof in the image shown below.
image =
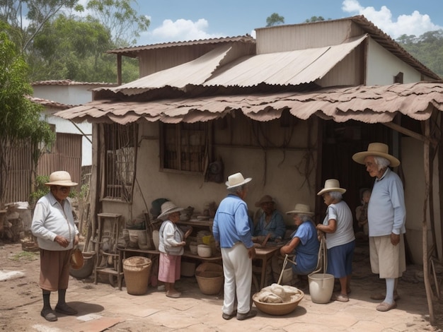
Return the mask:
[(202, 57), (185, 64), (152, 73), (115, 88), (96, 88), (94, 90), (108, 90), (114, 93), (123, 93), (124, 95), (138, 95), (148, 90), (164, 88), (166, 86), (186, 90), (187, 85), (201, 85), (205, 83), (231, 49), (231, 45), (221, 45), (202, 55)]

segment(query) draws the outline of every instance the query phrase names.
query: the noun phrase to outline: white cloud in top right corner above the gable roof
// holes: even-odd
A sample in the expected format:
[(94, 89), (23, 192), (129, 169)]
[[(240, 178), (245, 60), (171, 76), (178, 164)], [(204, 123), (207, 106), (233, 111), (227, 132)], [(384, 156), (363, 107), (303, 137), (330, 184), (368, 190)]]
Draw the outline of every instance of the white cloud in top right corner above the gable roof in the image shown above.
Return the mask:
[(427, 31), (443, 28), (432, 23), (429, 15), (420, 14), (419, 11), (393, 18), (391, 11), (386, 6), (381, 6), (380, 10), (377, 11), (374, 7), (361, 6), (357, 0), (344, 0), (342, 5), (342, 10), (346, 13), (364, 15), (365, 18), (394, 39), (401, 35), (420, 36)]

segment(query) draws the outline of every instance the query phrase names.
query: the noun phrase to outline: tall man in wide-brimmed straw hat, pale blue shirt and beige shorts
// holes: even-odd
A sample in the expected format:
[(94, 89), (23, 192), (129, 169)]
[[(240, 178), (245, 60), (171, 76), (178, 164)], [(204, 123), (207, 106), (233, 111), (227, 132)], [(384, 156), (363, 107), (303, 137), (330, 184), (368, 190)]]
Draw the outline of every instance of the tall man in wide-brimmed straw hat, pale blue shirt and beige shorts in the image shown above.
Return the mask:
[(386, 280), (386, 295), (372, 295), (384, 300), (376, 309), (387, 312), (397, 307), (396, 281), (406, 270), (403, 234), (406, 208), (400, 177), (389, 169), (400, 161), (389, 155), (384, 143), (370, 143), (367, 151), (355, 153), (352, 159), (365, 165), (374, 187), (368, 205), (369, 254), (373, 273)]

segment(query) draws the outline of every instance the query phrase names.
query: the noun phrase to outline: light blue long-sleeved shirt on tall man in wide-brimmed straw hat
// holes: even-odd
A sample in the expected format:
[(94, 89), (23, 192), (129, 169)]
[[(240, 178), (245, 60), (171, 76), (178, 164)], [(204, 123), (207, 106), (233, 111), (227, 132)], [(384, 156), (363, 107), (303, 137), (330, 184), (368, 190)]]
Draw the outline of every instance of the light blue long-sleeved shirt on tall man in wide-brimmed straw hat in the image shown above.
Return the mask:
[(405, 194), (400, 177), (389, 168), (376, 179), (368, 206), (369, 236), (403, 234), (405, 229)]

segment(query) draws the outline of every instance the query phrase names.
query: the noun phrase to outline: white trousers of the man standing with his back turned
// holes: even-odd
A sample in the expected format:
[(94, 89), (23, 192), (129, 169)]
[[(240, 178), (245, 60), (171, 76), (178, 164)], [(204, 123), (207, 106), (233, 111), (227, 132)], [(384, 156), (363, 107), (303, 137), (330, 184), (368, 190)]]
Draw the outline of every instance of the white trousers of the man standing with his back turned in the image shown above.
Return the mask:
[(238, 314), (246, 314), (251, 309), (252, 259), (244, 244), (234, 244), (232, 248), (222, 248), (224, 273), (224, 314), (234, 312), (237, 296)]

